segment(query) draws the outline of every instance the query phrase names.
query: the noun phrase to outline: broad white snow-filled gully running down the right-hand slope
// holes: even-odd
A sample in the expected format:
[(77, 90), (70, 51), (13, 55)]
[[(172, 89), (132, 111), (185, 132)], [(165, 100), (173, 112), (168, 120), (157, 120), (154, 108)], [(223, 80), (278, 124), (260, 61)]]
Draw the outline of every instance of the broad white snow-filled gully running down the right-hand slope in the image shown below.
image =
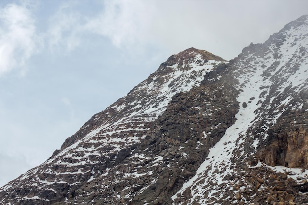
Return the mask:
[[(250, 57), (252, 57), (253, 59), (253, 56)], [(257, 62), (258, 60), (261, 59), (255, 59), (255, 62)], [(240, 110), (235, 116), (235, 123), (226, 130), (224, 136), (220, 139), (220, 141), (210, 149), (208, 157), (200, 165), (200, 167), (196, 171), (196, 175), (187, 182), (185, 182), (182, 188), (175, 195), (172, 196), (172, 200), (174, 201), (173, 205), (176, 204), (176, 199), (178, 198), (178, 195), (183, 195), (186, 189), (190, 189), (191, 192), (191, 198), (188, 204), (192, 204), (194, 200), (198, 201), (200, 204), (207, 204), (208, 200), (212, 197), (215, 197), (216, 200), (223, 197), (220, 190), (221, 185), (226, 182), (224, 184), (224, 187), (228, 186), (228, 181), (223, 181), (223, 178), (229, 174), (234, 175), (233, 166), (232, 164), (230, 164), (230, 162), (232, 161), (231, 158), (233, 157), (232, 153), (234, 153), (235, 151), (240, 153), (240, 155), (236, 157), (245, 154), (243, 147), (241, 147), (240, 145), (246, 141), (247, 129), (253, 126), (254, 122), (261, 117), (260, 113), (255, 111), (259, 110), (261, 106), (272, 106), (272, 102), (266, 105), (263, 105), (263, 103), (259, 102), (265, 101), (267, 96), (264, 94), (262, 95), (261, 93), (265, 92), (265, 90), (267, 91), (267, 93), (269, 93), (269, 87), (274, 83), (270, 78), (264, 78), (264, 72), (266, 68), (271, 66), (276, 60), (277, 59), (273, 59), (270, 54), (268, 55), (268, 58), (263, 61), (264, 65), (266, 66), (262, 68), (257, 67), (253, 73), (246, 72), (241, 76), (240, 79), (238, 79), (241, 87), (239, 89), (242, 91), (237, 97), (237, 101), (240, 103)], [(276, 69), (272, 72), (279, 72), (278, 70), (282, 68), (281, 65), (285, 64), (287, 61), (290, 61), (290, 59), (280, 59), (280, 66), (277, 66)], [(253, 61), (251, 62), (251, 64), (253, 64)], [(240, 69), (245, 68), (245, 64), (239, 63), (238, 65)], [(306, 66), (304, 68), (303, 66), (301, 66), (297, 72), (291, 75), (286, 73), (286, 76), (284, 77), (288, 79), (288, 81), (279, 84), (279, 91), (283, 91), (286, 87), (292, 85), (293, 80), (297, 78), (297, 76), (300, 76), (299, 78), (301, 79), (301, 83), (307, 81), (307, 74), (303, 75), (303, 73), (306, 72), (306, 69)], [(294, 85), (297, 86), (297, 84), (298, 83), (295, 83)], [(268, 85), (268, 87), (262, 88), (264, 87), (264, 85)], [(280, 93), (282, 93), (282, 91), (280, 91)], [(286, 97), (284, 101), (281, 101), (280, 104), (276, 106), (279, 107), (287, 105), (290, 99), (290, 97)], [(246, 103), (247, 106), (243, 106), (243, 103)], [(274, 118), (267, 116), (266, 113), (264, 115), (266, 115), (267, 120), (275, 123), (281, 113), (282, 112), (278, 112)], [(266, 138), (267, 133), (263, 134), (264, 138)], [(257, 148), (258, 142), (259, 140), (255, 139), (252, 143), (252, 146), (254, 148)], [(279, 171), (279, 169), (277, 169), (278, 168), (273, 168), (272, 170)], [(290, 169), (291, 168), (288, 168), (289, 171)], [(293, 173), (299, 173), (298, 170), (291, 170)], [(213, 183), (209, 185), (209, 182)], [(233, 188), (230, 186), (229, 190), (232, 189)], [(181, 204), (183, 203), (180, 203), (179, 205)]]

